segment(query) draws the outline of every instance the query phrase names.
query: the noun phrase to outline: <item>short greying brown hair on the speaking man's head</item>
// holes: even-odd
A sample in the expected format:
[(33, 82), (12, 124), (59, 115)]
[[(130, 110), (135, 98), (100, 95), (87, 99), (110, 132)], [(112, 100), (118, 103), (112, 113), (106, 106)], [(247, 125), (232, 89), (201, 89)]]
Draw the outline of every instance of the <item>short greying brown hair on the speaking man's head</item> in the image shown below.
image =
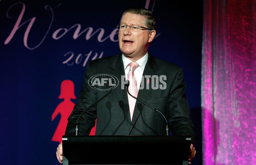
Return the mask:
[[(145, 17), (144, 24), (147, 26), (146, 28), (156, 30), (156, 26), (157, 26), (156, 19), (155, 19), (154, 15), (152, 14), (152, 12), (149, 11), (148, 9), (143, 8), (143, 7), (131, 7), (131, 8), (126, 9), (125, 12), (123, 12), (122, 17), (126, 13), (144, 16)], [(122, 21), (122, 17), (121, 17), (120, 23)]]

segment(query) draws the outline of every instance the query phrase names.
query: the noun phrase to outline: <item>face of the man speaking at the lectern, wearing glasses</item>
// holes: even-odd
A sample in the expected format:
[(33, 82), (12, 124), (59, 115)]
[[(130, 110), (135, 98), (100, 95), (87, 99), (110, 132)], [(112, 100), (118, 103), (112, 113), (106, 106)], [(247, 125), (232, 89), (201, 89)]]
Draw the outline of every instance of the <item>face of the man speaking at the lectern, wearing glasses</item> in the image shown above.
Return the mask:
[[(146, 27), (144, 20), (144, 16), (126, 13), (122, 17), (120, 24)], [(140, 30), (138, 32), (131, 31), (129, 26), (125, 31), (119, 31), (119, 48), (127, 58), (131, 59), (133, 62), (136, 62), (146, 54), (148, 51), (149, 43), (154, 39), (156, 32), (148, 32), (147, 30)]]

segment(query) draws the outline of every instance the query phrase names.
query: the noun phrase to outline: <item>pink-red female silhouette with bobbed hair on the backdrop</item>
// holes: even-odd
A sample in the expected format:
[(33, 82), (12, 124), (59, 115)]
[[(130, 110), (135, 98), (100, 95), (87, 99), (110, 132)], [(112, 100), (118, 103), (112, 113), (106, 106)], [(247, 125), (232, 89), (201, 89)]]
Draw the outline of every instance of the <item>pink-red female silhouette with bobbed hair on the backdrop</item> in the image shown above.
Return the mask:
[(52, 141), (55, 142), (62, 142), (62, 136), (65, 134), (65, 129), (67, 127), (67, 118), (69, 117), (70, 113), (75, 106), (75, 103), (71, 101), (71, 99), (76, 99), (74, 93), (74, 83), (71, 80), (64, 80), (61, 82), (61, 94), (58, 97), (59, 99), (64, 99), (55, 111), (52, 114), (52, 120), (58, 115), (61, 114), (60, 122), (58, 123), (57, 129), (52, 137)]

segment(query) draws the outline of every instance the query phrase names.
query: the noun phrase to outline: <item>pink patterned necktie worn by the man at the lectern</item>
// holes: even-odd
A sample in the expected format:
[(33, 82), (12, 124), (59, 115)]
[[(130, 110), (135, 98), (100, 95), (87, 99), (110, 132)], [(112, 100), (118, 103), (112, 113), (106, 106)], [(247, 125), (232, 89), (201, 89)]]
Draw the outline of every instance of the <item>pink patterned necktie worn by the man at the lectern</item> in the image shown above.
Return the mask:
[[(139, 66), (139, 64), (137, 64), (135, 62), (135, 63), (130, 63), (128, 65), (130, 66), (130, 70), (129, 70), (128, 76), (127, 76), (127, 80), (130, 81), (130, 85), (128, 87), (128, 90), (131, 93), (131, 95), (133, 95), (134, 97), (137, 98), (138, 89), (137, 89), (137, 81), (136, 81), (136, 78), (134, 76), (134, 70)], [(130, 115), (131, 115), (131, 120), (132, 120), (136, 99), (132, 98), (128, 94), (128, 101), (129, 101), (129, 109), (130, 109)]]

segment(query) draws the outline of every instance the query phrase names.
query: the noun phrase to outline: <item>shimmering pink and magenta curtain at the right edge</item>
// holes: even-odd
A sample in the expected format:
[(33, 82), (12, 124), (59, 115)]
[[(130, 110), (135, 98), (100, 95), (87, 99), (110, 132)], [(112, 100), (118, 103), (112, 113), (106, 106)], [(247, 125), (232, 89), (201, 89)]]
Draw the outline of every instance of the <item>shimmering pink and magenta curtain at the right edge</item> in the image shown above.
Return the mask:
[(256, 164), (256, 0), (204, 0), (204, 165)]

